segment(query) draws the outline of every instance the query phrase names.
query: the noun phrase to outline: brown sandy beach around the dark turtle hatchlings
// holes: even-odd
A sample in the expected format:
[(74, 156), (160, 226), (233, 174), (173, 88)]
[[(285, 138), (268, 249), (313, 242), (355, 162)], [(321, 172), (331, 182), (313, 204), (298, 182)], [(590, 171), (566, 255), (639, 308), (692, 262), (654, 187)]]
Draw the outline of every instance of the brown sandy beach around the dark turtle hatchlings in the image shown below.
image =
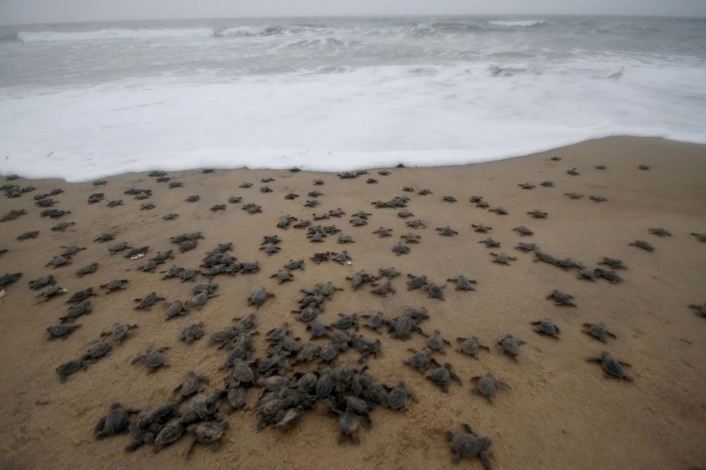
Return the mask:
[[(561, 157), (560, 162), (549, 157)], [(594, 169), (605, 164), (608, 169)], [(638, 170), (647, 164), (650, 171)], [(580, 176), (566, 170), (578, 167)], [(0, 300), (2, 358), (0, 373), (0, 469), (123, 469), (129, 468), (282, 468), (331, 469), (441, 469), (453, 464), (444, 436), (447, 429), (460, 430), (470, 423), (481, 435), (493, 440), (491, 461), (496, 469), (688, 469), (706, 465), (706, 320), (694, 315), (690, 303), (706, 302), (706, 243), (699, 243), (690, 232), (706, 231), (706, 147), (647, 138), (607, 138), (561, 148), (529, 157), (465, 167), (390, 169), (390, 176), (378, 176), (377, 184), (366, 184), (368, 176), (340, 180), (333, 174), (301, 171), (234, 170), (201, 174), (201, 171), (172, 173), (172, 181), (183, 181), (184, 188), (168, 189), (145, 174), (126, 174), (109, 178), (107, 185), (94, 188), (90, 183), (64, 181), (16, 181), (32, 184), (38, 192), (63, 188), (55, 197), (57, 207), (72, 214), (60, 220), (76, 222), (64, 233), (50, 231), (57, 220), (42, 219), (41, 209), (32, 204), (32, 195), (3, 199), (2, 214), (10, 209), (26, 209), (29, 214), (0, 224), (0, 248), (9, 253), (0, 258), (2, 272), (23, 272), (19, 282), (8, 287)], [(271, 176), (273, 193), (261, 193), (261, 178)], [(313, 186), (316, 178), (323, 186)], [(539, 183), (554, 181), (554, 188)], [(253, 187), (238, 186), (250, 181)], [(537, 185), (522, 190), (518, 183)], [(411, 194), (408, 209), (424, 219), (427, 229), (415, 233), (421, 243), (410, 244), (412, 253), (396, 256), (391, 247), (397, 237), (409, 231), (397, 210), (375, 209), (371, 201), (389, 200), (402, 193), (402, 186), (429, 188), (433, 195)], [(132, 186), (152, 188), (149, 202), (156, 209), (140, 211), (142, 201), (123, 192)], [(304, 207), (306, 193), (313, 189), (325, 193), (321, 207)], [(286, 193), (301, 195), (284, 200)], [(571, 200), (564, 193), (585, 195)], [(88, 205), (90, 193), (103, 192), (106, 201)], [(188, 195), (201, 195), (198, 203), (185, 203)], [(469, 203), (470, 195), (483, 195), (491, 207), (501, 205), (509, 215), (496, 215)], [(248, 215), (240, 205), (228, 205), (225, 212), (212, 213), (215, 203), (226, 203), (231, 195), (243, 202), (256, 202), (263, 213)], [(445, 203), (442, 195), (454, 195), (457, 203)], [(602, 195), (607, 203), (594, 203), (589, 195)], [(124, 199), (125, 205), (110, 209), (107, 200)], [(309, 243), (305, 231), (275, 228), (280, 215), (311, 218), (312, 212), (342, 207), (348, 215), (357, 210), (372, 212), (367, 227), (352, 227), (348, 217), (330, 221), (354, 237), (356, 243), (337, 245), (335, 236), (324, 243)], [(532, 219), (533, 209), (549, 212), (548, 219)], [(167, 222), (161, 216), (177, 212), (180, 217)], [(516, 255), (512, 265), (491, 263), (488, 248), (477, 243), (485, 238), (470, 225), (484, 223), (493, 227), (491, 236), (503, 243), (502, 251)], [(534, 230), (534, 236), (520, 237), (513, 227), (521, 224)], [(438, 236), (435, 227), (450, 225), (460, 232), (453, 238)], [(380, 226), (393, 228), (393, 238), (378, 239), (371, 232)], [(673, 236), (659, 238), (647, 233), (650, 227), (664, 227)], [(40, 230), (35, 240), (16, 241), (28, 230)], [(152, 311), (133, 310), (133, 299), (151, 291), (167, 299), (186, 300), (193, 284), (176, 279), (162, 280), (159, 274), (136, 270), (138, 261), (122, 256), (110, 257), (112, 243), (93, 243), (102, 231), (116, 231), (117, 241), (132, 246), (149, 245), (150, 254), (175, 248), (169, 236), (201, 230), (205, 240), (196, 250), (177, 253), (174, 263), (196, 267), (206, 251), (217, 243), (232, 241), (239, 261), (258, 260), (256, 275), (222, 275), (220, 297), (212, 299), (202, 311), (164, 321), (162, 306)], [(283, 239), (282, 251), (266, 256), (258, 251), (262, 236), (277, 234)], [(628, 246), (635, 239), (647, 240), (654, 253)], [(561, 270), (546, 263), (532, 263), (532, 253), (513, 250), (520, 241), (534, 242), (557, 258), (574, 258), (595, 266), (603, 256), (619, 258), (629, 267), (619, 272), (620, 284), (604, 280), (577, 279), (576, 270)], [(59, 246), (78, 243), (88, 247), (73, 260), (73, 265), (56, 270), (44, 267)], [(287, 260), (309, 258), (317, 251), (347, 248), (352, 265), (329, 262), (314, 265), (294, 274), (297, 279), (277, 285), (270, 275)], [(79, 267), (97, 261), (97, 273), (78, 279)], [(165, 269), (167, 265), (164, 266)], [(422, 291), (408, 292), (405, 280), (397, 277), (397, 294), (386, 299), (373, 295), (369, 287), (352, 291), (345, 277), (358, 270), (377, 271), (396, 267), (403, 275), (427, 275), (431, 281), (467, 275), (477, 279), (477, 290), (457, 292), (449, 284), (446, 300), (428, 299)], [(39, 303), (35, 291), (27, 287), (31, 279), (53, 273), (59, 285), (68, 289), (58, 299)], [(113, 278), (129, 279), (126, 291), (107, 296), (101, 291), (93, 298), (92, 315), (77, 320), (83, 325), (65, 341), (48, 342), (44, 329), (66, 312), (66, 299), (74, 291), (93, 286), (98, 289)], [(201, 278), (203, 279), (203, 278)], [(217, 370), (226, 352), (209, 344), (208, 334), (231, 325), (231, 319), (254, 311), (246, 303), (259, 287), (276, 294), (256, 315), (258, 330), (289, 320), (295, 332), (308, 337), (304, 325), (293, 321), (289, 311), (297, 307), (299, 289), (318, 282), (333, 281), (345, 291), (337, 292), (326, 304), (322, 320), (330, 322), (337, 312), (383, 311), (389, 318), (405, 306), (426, 307), (431, 319), (424, 330), (436, 328), (450, 339), (477, 335), (489, 344), (490, 353), (480, 361), (450, 351), (448, 360), (464, 385), (453, 384), (443, 394), (424, 376), (402, 364), (407, 348), (422, 347), (425, 338), (414, 335), (402, 342), (381, 335), (382, 354), (369, 362), (371, 372), (388, 384), (407, 380), (419, 395), (406, 413), (386, 409), (373, 411), (373, 428), (359, 431), (358, 446), (336, 445), (335, 418), (309, 411), (303, 422), (287, 433), (255, 430), (253, 412), (237, 412), (227, 418), (227, 431), (217, 452), (196, 448), (190, 461), (184, 460), (189, 438), (184, 438), (160, 454), (150, 447), (137, 452), (123, 450), (129, 436), (107, 438), (100, 442), (92, 435), (93, 426), (107, 413), (109, 405), (153, 409), (172, 397), (172, 389), (184, 378), (186, 370), (208, 375), (210, 387), (222, 384), (225, 371)], [(203, 279), (205, 282), (205, 279)], [(552, 289), (573, 294), (578, 307), (556, 307), (545, 296)], [(561, 339), (532, 332), (531, 320), (549, 317), (561, 327)], [(186, 325), (203, 320), (207, 337), (184, 344), (177, 340)], [(134, 335), (114, 347), (112, 355), (59, 383), (54, 369), (82, 354), (100, 332), (112, 323), (137, 323)], [(618, 339), (604, 345), (581, 333), (584, 322), (604, 322)], [(367, 337), (375, 332), (361, 330)], [(498, 351), (496, 342), (506, 334), (525, 339), (519, 361)], [(148, 375), (144, 366), (131, 366), (131, 360), (145, 347), (170, 346), (166, 360), (170, 367)], [(263, 354), (263, 335), (256, 337), (258, 355)], [(449, 348), (450, 349), (450, 348)], [(601, 368), (585, 358), (608, 349), (614, 356), (632, 363), (628, 373), (634, 382), (607, 380)], [(349, 352), (344, 358), (355, 359)], [(491, 405), (469, 391), (472, 375), (493, 371), (513, 390), (501, 391)], [(251, 391), (249, 402), (255, 403)], [(184, 403), (184, 406), (186, 403)], [(223, 406), (225, 408), (225, 405)], [(480, 469), (481, 462), (462, 462), (464, 468)]]

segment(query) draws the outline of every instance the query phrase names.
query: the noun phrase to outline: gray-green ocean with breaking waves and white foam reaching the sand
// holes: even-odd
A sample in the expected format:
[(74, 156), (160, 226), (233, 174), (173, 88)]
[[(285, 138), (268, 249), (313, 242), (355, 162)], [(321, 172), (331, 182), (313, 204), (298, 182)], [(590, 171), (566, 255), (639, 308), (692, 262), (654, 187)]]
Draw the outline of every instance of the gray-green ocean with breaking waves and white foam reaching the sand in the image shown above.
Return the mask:
[(31, 178), (467, 164), (705, 119), (706, 18), (0, 26), (0, 172)]

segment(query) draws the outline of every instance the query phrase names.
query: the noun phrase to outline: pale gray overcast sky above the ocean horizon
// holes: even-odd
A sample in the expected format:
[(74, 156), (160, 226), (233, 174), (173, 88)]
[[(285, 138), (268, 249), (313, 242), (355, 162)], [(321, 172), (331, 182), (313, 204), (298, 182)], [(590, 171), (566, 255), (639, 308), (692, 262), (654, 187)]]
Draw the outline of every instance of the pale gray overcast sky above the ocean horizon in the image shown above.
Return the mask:
[(706, 0), (0, 0), (0, 24), (444, 14), (706, 16)]

